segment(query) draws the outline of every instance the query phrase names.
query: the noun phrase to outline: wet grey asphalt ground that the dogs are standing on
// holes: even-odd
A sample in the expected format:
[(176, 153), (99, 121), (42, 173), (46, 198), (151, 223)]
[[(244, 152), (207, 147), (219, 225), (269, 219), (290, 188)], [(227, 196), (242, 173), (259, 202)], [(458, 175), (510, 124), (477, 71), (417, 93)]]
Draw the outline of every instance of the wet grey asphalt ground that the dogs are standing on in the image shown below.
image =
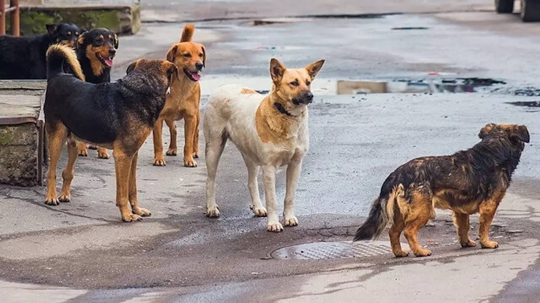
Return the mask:
[[(222, 4), (217, 5), (220, 8)], [(231, 11), (238, 7), (231, 6)], [(280, 16), (275, 12), (264, 16), (268, 15)], [(178, 20), (178, 16), (174, 18)], [(534, 301), (538, 266), (528, 266), (538, 264), (538, 252), (534, 250), (537, 245), (531, 239), (538, 239), (540, 220), (535, 209), (540, 197), (540, 152), (534, 139), (539, 136), (539, 111), (537, 107), (509, 103), (534, 102), (538, 98), (492, 92), (497, 87), (474, 94), (333, 96), (338, 79), (425, 78), (431, 71), (439, 73), (436, 77), (503, 79), (507, 84), (499, 87), (502, 91), (536, 85), (540, 75), (535, 37), (540, 28), (516, 23), (517, 19), (512, 18), (516, 17), (454, 12), (302, 19), (265, 26), (251, 26), (249, 20), (197, 23), (195, 39), (205, 43), (209, 54), (201, 84), (204, 95), (228, 83), (268, 89), (267, 62), (272, 56), (289, 66), (302, 66), (319, 57), (327, 59), (315, 80), (316, 99), (310, 107), (311, 147), (296, 196), (300, 226), (286, 228), (280, 234), (268, 233), (266, 219), (252, 216), (246, 169), (231, 145), (218, 170), (221, 217), (206, 218), (204, 157), (196, 169), (181, 167), (181, 157), (167, 157), (166, 167), (154, 167), (149, 138), (140, 152), (138, 185), (141, 204), (153, 215), (141, 223), (119, 222), (113, 203), (113, 162), (96, 159), (93, 151), (91, 157), (77, 162), (71, 203), (44, 206), (43, 187), (0, 187), (4, 197), (0, 204), (0, 278), (30, 283), (18, 291), (28, 294), (39, 294), (40, 284), (45, 285), (45, 289), (57, 294), (53, 301), (300, 300), (306, 298), (301, 296), (306, 293), (320, 295), (307, 298), (326, 298), (326, 292), (362, 289), (370, 278), (406, 266), (427, 268), (435, 262), (455, 263), (464, 268), (451, 270), (461, 270), (463, 277), (468, 267), (487, 272), (495, 265), (467, 258), (487, 260), (484, 254), (502, 253), (498, 258), (509, 258), (508, 264), (497, 262), (500, 273), (490, 275), (492, 279), (500, 276), (501, 280), (493, 281), (498, 288), (482, 284), (482, 279), (487, 278), (478, 271), (478, 276), (470, 276), (468, 285), (489, 290), (482, 293), (484, 297), (471, 294), (471, 301), (506, 301), (520, 293), (529, 296), (522, 297), (523, 302)], [(164, 57), (181, 26), (183, 23), (146, 23), (140, 35), (122, 37), (113, 76), (121, 77), (134, 58)], [(392, 30), (398, 26), (428, 29)], [(205, 102), (206, 96), (203, 107)], [(395, 167), (411, 158), (467, 149), (478, 142), (478, 130), (489, 122), (526, 124), (532, 138), (516, 171), (515, 183), (496, 217), (499, 227), (492, 228), (492, 237), (499, 237), (502, 243), (500, 250), (458, 249), (451, 219), (448, 213), (440, 212), (434, 226), (424, 228), (421, 234), (423, 243), (435, 253), (428, 259), (397, 260), (390, 254), (316, 263), (269, 259), (271, 252), (284, 246), (350, 240), (382, 181)], [(181, 133), (179, 130), (180, 143)], [(281, 170), (277, 185), (280, 209), (284, 193)], [(476, 222), (475, 217), (475, 228)], [(521, 232), (508, 232), (511, 230)], [(515, 252), (515, 247), (529, 247), (530, 260), (516, 258), (512, 263), (510, 257), (504, 256), (517, 256), (521, 248)], [(495, 260), (496, 255), (492, 258)], [(359, 272), (359, 277), (362, 268), (372, 272), (362, 278), (328, 277), (329, 282), (335, 282), (333, 286), (313, 281), (318, 275), (340, 273), (344, 268)], [(443, 273), (444, 268), (436, 271)], [(414, 272), (426, 274), (429, 281), (437, 279), (436, 274), (428, 276), (427, 271), (418, 268)], [(341, 279), (361, 284), (348, 287)], [(386, 282), (375, 285), (372, 292), (392, 294)], [(10, 284), (3, 289), (17, 292), (18, 288)], [(399, 289), (396, 287), (396, 292)], [(422, 294), (423, 289), (415, 290)], [(258, 294), (257, 300), (253, 299), (254, 293)], [(447, 295), (443, 289), (433, 293)]]

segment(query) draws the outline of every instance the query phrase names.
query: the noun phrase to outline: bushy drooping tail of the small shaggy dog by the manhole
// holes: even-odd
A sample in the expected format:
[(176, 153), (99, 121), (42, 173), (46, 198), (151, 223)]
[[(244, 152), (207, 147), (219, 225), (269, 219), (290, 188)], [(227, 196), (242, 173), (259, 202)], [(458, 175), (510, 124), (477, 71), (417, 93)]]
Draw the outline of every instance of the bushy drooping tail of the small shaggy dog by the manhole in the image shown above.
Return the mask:
[(403, 204), (399, 199), (404, 199), (404, 195), (405, 190), (402, 184), (394, 186), (392, 191), (386, 194), (381, 193), (379, 198), (373, 201), (367, 220), (356, 231), (354, 241), (374, 240), (381, 235), (388, 223), (394, 224), (396, 202), (400, 212), (403, 212), (404, 210), (400, 209)]

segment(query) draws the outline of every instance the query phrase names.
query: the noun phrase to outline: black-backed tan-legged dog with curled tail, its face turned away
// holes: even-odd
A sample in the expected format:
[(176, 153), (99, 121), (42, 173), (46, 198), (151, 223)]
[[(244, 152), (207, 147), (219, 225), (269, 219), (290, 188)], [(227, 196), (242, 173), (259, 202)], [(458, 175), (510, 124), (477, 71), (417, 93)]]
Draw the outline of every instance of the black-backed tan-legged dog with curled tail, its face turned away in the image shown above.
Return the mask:
[[(67, 62), (74, 75), (63, 72)], [(137, 154), (152, 132), (165, 104), (176, 66), (166, 60), (139, 59), (116, 83), (84, 82), (74, 50), (52, 45), (47, 52), (48, 83), (45, 93), (45, 131), (50, 165), (45, 203), (58, 205), (70, 200), (77, 141), (113, 149), (116, 168), (116, 205), (124, 221), (137, 221), (150, 212), (137, 201)], [(60, 196), (56, 193), (56, 166), (68, 141), (68, 164), (62, 172)], [(131, 205), (131, 210), (128, 204)]]

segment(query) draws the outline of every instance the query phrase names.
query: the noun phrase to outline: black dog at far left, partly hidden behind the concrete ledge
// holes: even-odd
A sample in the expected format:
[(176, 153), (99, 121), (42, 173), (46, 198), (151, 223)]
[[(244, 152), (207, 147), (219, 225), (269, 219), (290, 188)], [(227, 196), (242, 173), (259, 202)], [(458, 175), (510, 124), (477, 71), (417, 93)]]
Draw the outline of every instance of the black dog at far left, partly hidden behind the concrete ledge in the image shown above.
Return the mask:
[(0, 36), (0, 79), (45, 79), (45, 53), (53, 43), (75, 47), (84, 31), (75, 24), (47, 24), (35, 37)]

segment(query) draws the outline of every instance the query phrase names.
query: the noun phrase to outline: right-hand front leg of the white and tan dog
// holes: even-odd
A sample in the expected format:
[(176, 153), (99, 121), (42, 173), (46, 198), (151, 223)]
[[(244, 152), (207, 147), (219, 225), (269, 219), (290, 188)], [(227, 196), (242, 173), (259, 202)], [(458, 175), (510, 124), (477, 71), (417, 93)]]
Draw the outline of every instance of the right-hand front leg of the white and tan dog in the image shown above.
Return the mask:
[(283, 225), (285, 226), (298, 225), (298, 219), (294, 216), (294, 194), (302, 170), (302, 156), (294, 156), (287, 165), (287, 186), (283, 207)]

